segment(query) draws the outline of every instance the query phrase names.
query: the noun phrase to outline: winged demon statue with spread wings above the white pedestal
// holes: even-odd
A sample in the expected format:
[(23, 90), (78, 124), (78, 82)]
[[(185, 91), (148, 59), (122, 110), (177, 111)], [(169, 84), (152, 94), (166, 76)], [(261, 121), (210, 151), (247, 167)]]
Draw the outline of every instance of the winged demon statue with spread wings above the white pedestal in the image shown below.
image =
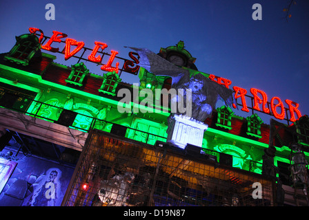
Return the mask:
[(231, 89), (219, 85), (202, 74), (190, 76), (188, 69), (170, 63), (147, 48), (129, 48), (139, 54), (139, 66), (157, 76), (170, 76), (172, 78), (172, 88), (185, 90), (183, 98), (186, 97), (186, 89), (191, 89), (191, 118), (204, 122), (206, 118), (211, 116), (212, 109), (215, 108), (215, 104), (219, 99), (223, 100), (226, 106), (232, 107), (233, 103), (237, 106)]

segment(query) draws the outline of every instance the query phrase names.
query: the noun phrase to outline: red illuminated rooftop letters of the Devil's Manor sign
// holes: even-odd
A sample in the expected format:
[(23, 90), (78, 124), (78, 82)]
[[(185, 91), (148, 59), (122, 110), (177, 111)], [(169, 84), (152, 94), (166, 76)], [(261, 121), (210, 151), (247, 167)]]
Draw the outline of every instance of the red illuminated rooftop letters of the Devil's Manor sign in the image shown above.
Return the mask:
[[(29, 32), (31, 34), (35, 34), (36, 32), (40, 32), (40, 37), (39, 37), (39, 42), (41, 43), (42, 39), (43, 39), (43, 31), (40, 30), (39, 28), (29, 28)], [(48, 40), (48, 42), (45, 45), (42, 45), (41, 48), (43, 50), (48, 50), (50, 52), (59, 52), (59, 48), (58, 47), (52, 47), (52, 43), (54, 42), (61, 42), (61, 39), (66, 38), (68, 35), (67, 34), (63, 34), (61, 32), (57, 32), (57, 31), (53, 31), (52, 32), (52, 36), (50, 37), (50, 39)], [(71, 45), (72, 46), (76, 46), (74, 48), (74, 50), (71, 51)], [(64, 56), (65, 56), (65, 60), (68, 60), (69, 58), (71, 58), (72, 56), (74, 56), (74, 54), (77, 54), (83, 47), (84, 47), (85, 43), (83, 43), (83, 41), (76, 41), (74, 39), (66, 39), (66, 47), (64, 49)], [(92, 61), (94, 63), (100, 63), (101, 62), (101, 56), (97, 56), (97, 52), (99, 51), (99, 49), (101, 48), (101, 50), (106, 49), (106, 47), (108, 47), (108, 45), (106, 43), (101, 43), (99, 41), (95, 41), (94, 42), (94, 48), (91, 52), (91, 54), (88, 56), (88, 60)], [(106, 63), (105, 65), (101, 66), (101, 69), (103, 71), (107, 71), (107, 72), (119, 72), (119, 63), (117, 62), (115, 64), (114, 67), (112, 67), (112, 63), (114, 62), (114, 58), (116, 57), (116, 55), (118, 54), (117, 51), (112, 50), (111, 51), (111, 55), (110, 58), (108, 60), (108, 63)], [(137, 65), (139, 63), (139, 54), (135, 53), (135, 52), (129, 52), (129, 56), (130, 58), (132, 58), (132, 61), (126, 61), (123, 64), (123, 69), (126, 72), (130, 72), (131, 74), (135, 74), (138, 72), (139, 70), (139, 65)], [(134, 62), (133, 62), (134, 61)], [(134, 67), (135, 65), (135, 67)], [(210, 80), (215, 81), (216, 83), (219, 83), (220, 85), (224, 85), (226, 88), (229, 88), (229, 86), (232, 84), (231, 80), (228, 80), (226, 78), (221, 78), (218, 76), (215, 76), (213, 74), (211, 74), (209, 76)], [(243, 89), (241, 87), (233, 87), (234, 91), (235, 91), (235, 99), (237, 100), (237, 98), (241, 98), (241, 104), (242, 104), (242, 108), (241, 111), (246, 111), (249, 112), (247, 103), (246, 103), (246, 94), (247, 94), (247, 90)], [(272, 113), (272, 115), (275, 116), (275, 118), (279, 119), (279, 120), (283, 120), (286, 113), (285, 113), (285, 108), (283, 106), (283, 102), (280, 100), (280, 98), (278, 97), (273, 97), (270, 100), (270, 109), (268, 107), (266, 107), (266, 104), (268, 104), (268, 97), (267, 94), (259, 89), (255, 89), (255, 88), (251, 88), (250, 92), (252, 94), (252, 98), (254, 99), (254, 106), (252, 107), (252, 109), (255, 109), (257, 111), (261, 111), (259, 104), (262, 104), (262, 111), (264, 113)], [(258, 94), (261, 95), (258, 96)], [(285, 100), (286, 104), (288, 104), (288, 110), (290, 111), (290, 121), (291, 122), (295, 122), (296, 118), (295, 118), (295, 113), (297, 115), (298, 118), (301, 117), (301, 112), (299, 111), (298, 107), (299, 104), (296, 102), (293, 102), (291, 100)], [(277, 104), (275, 104), (275, 102), (277, 102)], [(233, 104), (233, 107), (236, 108), (235, 104)], [(277, 109), (281, 108), (281, 113), (278, 113)]]

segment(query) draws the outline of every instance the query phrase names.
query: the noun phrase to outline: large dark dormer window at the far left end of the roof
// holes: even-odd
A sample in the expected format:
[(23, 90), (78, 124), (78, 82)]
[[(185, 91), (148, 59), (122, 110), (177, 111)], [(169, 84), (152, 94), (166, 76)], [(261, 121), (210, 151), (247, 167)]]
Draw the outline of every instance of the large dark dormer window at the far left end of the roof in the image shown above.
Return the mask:
[(40, 52), (41, 44), (34, 34), (23, 34), (16, 36), (16, 43), (12, 50), (4, 57), (5, 60), (28, 65), (31, 58)]

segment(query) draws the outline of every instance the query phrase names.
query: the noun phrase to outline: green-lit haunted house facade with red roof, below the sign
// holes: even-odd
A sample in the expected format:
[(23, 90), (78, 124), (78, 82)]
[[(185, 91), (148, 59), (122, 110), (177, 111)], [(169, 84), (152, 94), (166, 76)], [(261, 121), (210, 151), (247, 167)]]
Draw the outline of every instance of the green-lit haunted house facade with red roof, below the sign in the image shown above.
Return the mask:
[[(82, 56), (70, 67), (56, 63), (42, 46), (51, 38), (38, 36), (18, 36), (0, 54), (1, 206), (309, 205), (307, 115), (266, 124), (259, 113), (243, 118), (223, 105), (197, 125), (179, 117), (171, 130), (168, 106), (117, 108), (121, 89), (171, 88), (170, 77), (138, 66), (138, 54), (120, 69), (139, 76), (136, 86), (118, 69), (90, 73)], [(181, 41), (158, 54), (213, 78)], [(143, 109), (144, 98), (132, 97), (132, 109)]]

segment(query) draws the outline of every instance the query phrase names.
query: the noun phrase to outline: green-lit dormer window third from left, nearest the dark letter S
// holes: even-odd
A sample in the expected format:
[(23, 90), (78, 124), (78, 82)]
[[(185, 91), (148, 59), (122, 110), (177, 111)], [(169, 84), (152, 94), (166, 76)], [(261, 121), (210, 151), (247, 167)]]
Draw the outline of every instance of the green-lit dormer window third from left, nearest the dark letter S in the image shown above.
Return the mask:
[(116, 96), (116, 88), (120, 81), (121, 78), (119, 78), (119, 75), (116, 72), (108, 72), (107, 74), (103, 74), (103, 82), (99, 92)]

